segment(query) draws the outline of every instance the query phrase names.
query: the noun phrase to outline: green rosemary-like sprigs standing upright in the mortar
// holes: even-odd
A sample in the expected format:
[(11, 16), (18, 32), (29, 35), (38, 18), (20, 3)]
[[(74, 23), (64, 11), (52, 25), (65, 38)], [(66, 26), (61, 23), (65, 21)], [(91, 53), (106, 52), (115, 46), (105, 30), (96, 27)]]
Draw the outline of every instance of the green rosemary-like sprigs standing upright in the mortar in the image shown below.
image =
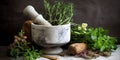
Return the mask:
[(55, 1), (54, 4), (44, 0), (43, 16), (53, 25), (70, 23), (73, 17), (73, 4)]

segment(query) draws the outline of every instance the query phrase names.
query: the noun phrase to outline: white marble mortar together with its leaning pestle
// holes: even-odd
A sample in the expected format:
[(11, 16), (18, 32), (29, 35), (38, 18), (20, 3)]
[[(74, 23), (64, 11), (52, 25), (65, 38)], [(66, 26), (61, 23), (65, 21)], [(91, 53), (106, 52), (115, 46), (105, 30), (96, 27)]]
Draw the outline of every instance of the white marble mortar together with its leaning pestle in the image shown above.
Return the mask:
[(46, 54), (61, 53), (63, 49), (60, 46), (70, 41), (70, 23), (53, 26), (31, 5), (25, 7), (23, 13), (33, 21), (31, 24), (32, 41), (44, 47), (43, 51)]

